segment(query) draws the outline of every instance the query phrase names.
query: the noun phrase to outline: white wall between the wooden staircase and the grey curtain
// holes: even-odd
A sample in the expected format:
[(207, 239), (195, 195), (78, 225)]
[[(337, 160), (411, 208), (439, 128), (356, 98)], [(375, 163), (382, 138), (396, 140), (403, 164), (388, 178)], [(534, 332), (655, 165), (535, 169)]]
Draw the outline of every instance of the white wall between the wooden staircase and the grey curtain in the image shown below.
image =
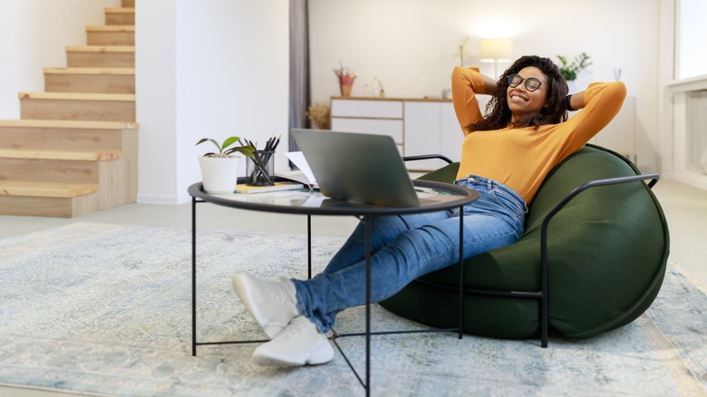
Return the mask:
[[(286, 135), (286, 0), (136, 2), (140, 202), (181, 203), (201, 180), (195, 147), (237, 135)], [(286, 139), (278, 152), (287, 150)], [(276, 169), (285, 169), (282, 154)], [(245, 161), (241, 162), (245, 175)]]

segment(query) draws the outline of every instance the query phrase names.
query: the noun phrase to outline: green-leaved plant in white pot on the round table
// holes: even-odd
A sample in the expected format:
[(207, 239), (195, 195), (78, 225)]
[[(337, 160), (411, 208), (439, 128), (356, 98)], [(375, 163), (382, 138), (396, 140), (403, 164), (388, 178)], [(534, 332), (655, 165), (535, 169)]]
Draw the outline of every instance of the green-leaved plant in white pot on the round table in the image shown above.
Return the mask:
[[(222, 144), (210, 138), (202, 138), (197, 145), (209, 141), (213, 143), (218, 151), (211, 151), (199, 157), (201, 168), (201, 178), (204, 184), (204, 191), (208, 194), (230, 194), (236, 190), (238, 181), (238, 166), (241, 153), (246, 157), (253, 157), (256, 148), (241, 143), (240, 138), (228, 137)], [(240, 146), (236, 146), (239, 144)]]

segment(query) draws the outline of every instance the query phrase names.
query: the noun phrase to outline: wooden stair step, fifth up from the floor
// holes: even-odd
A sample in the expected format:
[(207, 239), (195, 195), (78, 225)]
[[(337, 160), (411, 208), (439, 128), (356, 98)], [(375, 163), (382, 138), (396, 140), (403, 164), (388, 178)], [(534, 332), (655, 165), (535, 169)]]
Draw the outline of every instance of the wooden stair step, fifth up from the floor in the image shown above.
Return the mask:
[(135, 69), (45, 68), (44, 91), (135, 93)]

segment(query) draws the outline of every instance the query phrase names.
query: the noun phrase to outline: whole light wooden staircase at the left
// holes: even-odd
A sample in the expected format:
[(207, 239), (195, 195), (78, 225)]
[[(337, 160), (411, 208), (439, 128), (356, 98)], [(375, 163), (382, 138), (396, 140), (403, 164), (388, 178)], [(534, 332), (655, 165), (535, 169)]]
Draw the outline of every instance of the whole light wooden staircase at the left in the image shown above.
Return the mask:
[(105, 9), (44, 92), (20, 92), (20, 120), (0, 121), (0, 214), (71, 218), (135, 202), (135, 5)]

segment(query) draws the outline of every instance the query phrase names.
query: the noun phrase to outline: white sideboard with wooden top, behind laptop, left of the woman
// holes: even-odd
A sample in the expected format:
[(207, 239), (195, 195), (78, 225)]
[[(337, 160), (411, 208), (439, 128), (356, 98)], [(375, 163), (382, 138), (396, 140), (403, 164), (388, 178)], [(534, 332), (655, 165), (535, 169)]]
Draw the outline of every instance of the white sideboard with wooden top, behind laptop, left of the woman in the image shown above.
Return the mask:
[[(332, 131), (390, 135), (402, 156), (460, 159), (463, 134), (449, 100), (341, 98), (331, 101)], [(441, 160), (411, 161), (411, 170), (438, 169)]]

